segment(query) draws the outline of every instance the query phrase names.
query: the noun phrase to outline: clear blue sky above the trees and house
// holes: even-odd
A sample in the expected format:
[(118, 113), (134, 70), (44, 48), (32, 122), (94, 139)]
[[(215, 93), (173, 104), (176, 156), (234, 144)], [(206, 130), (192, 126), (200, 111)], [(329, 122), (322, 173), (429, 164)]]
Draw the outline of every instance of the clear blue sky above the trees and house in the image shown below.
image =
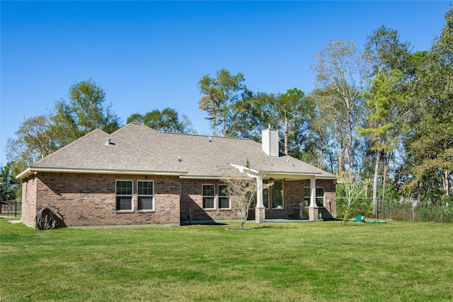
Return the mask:
[(242, 72), (251, 91), (314, 88), (314, 52), (362, 48), (384, 24), (429, 50), (449, 1), (1, 1), (0, 163), (25, 118), (47, 114), (93, 79), (125, 123), (174, 108), (210, 134), (197, 82)]

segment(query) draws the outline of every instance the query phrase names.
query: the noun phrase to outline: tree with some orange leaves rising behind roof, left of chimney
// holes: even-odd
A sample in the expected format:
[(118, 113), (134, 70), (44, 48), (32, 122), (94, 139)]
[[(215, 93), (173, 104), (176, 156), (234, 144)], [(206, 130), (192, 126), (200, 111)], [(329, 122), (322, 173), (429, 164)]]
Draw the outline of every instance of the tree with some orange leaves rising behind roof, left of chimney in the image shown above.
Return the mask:
[[(229, 135), (231, 122), (231, 105), (241, 99), (241, 95), (246, 91), (244, 77), (241, 72), (231, 75), (230, 71), (220, 69), (215, 78), (209, 74), (203, 76), (198, 81), (198, 88), (203, 97), (198, 101), (201, 110), (207, 112), (205, 119), (210, 120), (212, 134)], [(218, 130), (217, 127), (222, 130)]]

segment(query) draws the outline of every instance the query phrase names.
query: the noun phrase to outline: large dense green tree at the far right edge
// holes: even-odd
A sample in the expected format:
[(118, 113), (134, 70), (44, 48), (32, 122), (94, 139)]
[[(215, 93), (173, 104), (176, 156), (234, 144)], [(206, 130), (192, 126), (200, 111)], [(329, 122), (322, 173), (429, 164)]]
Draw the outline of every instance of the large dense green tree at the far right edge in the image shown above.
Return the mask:
[(417, 69), (418, 95), (426, 102), (406, 142), (406, 164), (412, 175), (408, 176), (406, 192), (414, 197), (431, 196), (441, 188), (443, 197), (430, 203), (448, 204), (453, 182), (453, 8), (445, 20), (440, 37)]

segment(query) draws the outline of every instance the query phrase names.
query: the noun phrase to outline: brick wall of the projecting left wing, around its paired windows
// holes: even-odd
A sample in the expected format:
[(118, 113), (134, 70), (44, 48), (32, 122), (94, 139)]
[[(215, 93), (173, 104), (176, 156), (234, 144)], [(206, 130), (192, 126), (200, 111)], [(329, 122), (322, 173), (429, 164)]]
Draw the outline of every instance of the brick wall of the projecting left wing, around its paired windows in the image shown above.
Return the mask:
[[(133, 181), (132, 211), (115, 211), (115, 180)], [(137, 180), (154, 180), (154, 211), (137, 211)], [(36, 181), (34, 215), (48, 207), (65, 226), (180, 223), (176, 177), (38, 173)]]

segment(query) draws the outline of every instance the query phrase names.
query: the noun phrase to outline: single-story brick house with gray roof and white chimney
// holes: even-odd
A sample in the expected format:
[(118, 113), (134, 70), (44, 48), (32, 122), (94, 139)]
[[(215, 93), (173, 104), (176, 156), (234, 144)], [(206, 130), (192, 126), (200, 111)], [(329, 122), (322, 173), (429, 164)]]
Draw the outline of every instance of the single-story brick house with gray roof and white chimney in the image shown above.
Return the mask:
[[(279, 152), (277, 130), (251, 139), (157, 132), (130, 123), (96, 129), (33, 163), (22, 180), (22, 221), (51, 209), (63, 226), (180, 224), (239, 219), (219, 167), (248, 161), (263, 177), (250, 218), (336, 216), (336, 177)], [(274, 185), (263, 186), (271, 180)], [(234, 197), (233, 197), (234, 198)]]

